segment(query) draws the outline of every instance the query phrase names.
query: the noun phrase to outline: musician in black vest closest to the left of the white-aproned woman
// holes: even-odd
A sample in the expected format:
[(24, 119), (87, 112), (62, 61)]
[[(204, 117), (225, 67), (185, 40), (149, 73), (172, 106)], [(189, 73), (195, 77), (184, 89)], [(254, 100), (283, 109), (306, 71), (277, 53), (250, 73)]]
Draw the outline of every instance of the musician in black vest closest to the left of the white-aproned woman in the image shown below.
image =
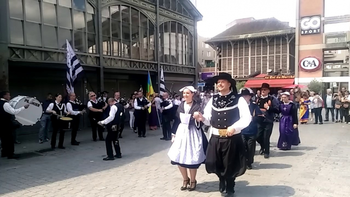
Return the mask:
[(167, 92), (163, 93), (163, 100), (160, 103), (161, 113), (162, 113), (162, 129), (163, 129), (163, 137), (160, 139), (171, 140), (171, 125), (170, 122), (172, 120), (172, 100), (169, 99), (169, 94)]

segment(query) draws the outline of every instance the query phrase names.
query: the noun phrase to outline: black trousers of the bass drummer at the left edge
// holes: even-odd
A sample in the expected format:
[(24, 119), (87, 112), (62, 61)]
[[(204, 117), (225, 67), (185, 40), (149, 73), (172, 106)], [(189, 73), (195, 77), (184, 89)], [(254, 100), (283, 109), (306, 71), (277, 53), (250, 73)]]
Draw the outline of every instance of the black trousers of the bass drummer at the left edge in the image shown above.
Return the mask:
[(3, 127), (3, 129), (0, 130), (0, 139), (1, 139), (1, 156), (11, 157), (15, 152), (12, 129)]

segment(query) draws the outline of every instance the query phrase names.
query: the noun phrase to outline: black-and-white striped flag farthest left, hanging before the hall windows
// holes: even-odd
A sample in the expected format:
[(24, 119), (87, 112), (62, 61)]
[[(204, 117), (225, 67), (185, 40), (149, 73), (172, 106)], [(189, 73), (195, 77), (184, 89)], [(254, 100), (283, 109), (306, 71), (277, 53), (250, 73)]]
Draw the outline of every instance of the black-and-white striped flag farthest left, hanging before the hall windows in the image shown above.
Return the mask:
[(74, 53), (72, 46), (67, 42), (67, 84), (66, 89), (68, 94), (74, 92), (74, 84), (77, 83), (76, 79), (80, 72), (83, 71), (82, 65)]

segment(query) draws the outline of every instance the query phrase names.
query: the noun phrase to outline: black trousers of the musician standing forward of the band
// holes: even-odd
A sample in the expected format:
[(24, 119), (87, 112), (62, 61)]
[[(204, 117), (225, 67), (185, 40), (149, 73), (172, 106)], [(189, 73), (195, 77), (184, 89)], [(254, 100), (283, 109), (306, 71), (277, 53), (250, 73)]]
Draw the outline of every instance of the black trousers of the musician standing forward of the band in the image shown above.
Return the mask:
[(106, 136), (106, 151), (107, 151), (107, 156), (109, 158), (113, 158), (113, 147), (112, 143), (114, 146), (114, 151), (117, 156), (121, 155), (120, 152), (120, 145), (119, 145), (119, 139), (118, 139), (118, 133), (119, 133), (120, 125), (116, 125), (116, 130), (112, 130), (112, 126), (107, 127), (107, 136)]

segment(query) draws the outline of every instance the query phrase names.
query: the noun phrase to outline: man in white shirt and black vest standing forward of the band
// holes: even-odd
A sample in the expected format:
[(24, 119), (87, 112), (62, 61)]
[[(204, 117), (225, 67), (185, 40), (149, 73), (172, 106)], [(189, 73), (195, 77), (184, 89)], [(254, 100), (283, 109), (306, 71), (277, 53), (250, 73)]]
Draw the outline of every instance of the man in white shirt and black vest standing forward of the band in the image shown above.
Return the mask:
[[(123, 115), (123, 107), (121, 104), (117, 103), (114, 98), (108, 99), (108, 104), (111, 107), (109, 111), (109, 116), (99, 121), (98, 125), (107, 125), (107, 136), (106, 136), (106, 151), (107, 157), (104, 158), (104, 161), (114, 160), (114, 157), (121, 158), (119, 140), (118, 140), (118, 131), (120, 129), (120, 119)], [(113, 156), (113, 147), (114, 145), (115, 156)]]

